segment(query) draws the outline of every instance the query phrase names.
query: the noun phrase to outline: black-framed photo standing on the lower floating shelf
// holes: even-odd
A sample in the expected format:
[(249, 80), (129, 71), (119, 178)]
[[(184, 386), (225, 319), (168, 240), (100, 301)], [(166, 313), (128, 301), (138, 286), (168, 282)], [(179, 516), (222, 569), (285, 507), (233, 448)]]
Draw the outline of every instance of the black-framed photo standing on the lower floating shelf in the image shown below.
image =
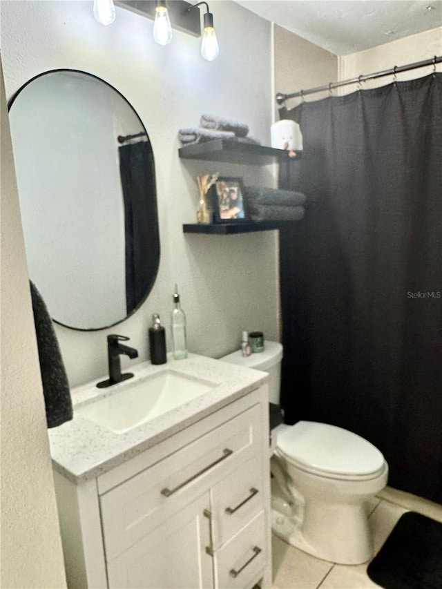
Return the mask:
[(241, 178), (218, 178), (211, 188), (215, 223), (246, 220), (244, 186)]

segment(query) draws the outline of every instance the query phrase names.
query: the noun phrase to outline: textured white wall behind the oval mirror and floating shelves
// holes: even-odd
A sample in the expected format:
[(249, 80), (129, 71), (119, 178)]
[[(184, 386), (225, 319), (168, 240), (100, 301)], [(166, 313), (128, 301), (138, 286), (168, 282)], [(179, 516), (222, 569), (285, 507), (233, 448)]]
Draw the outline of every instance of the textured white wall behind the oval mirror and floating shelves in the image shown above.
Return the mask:
[[(91, 1), (1, 2), (1, 46), (8, 97), (45, 70), (93, 73), (122, 92), (144, 122), (157, 172), (161, 261), (142, 309), (111, 331), (131, 337), (148, 358), (147, 329), (158, 312), (169, 326), (175, 282), (182, 295), (191, 351), (219, 357), (240, 345), (242, 329), (278, 339), (276, 232), (184, 235), (195, 221), (195, 176), (219, 172), (254, 184), (249, 166), (191, 162), (177, 157), (177, 131), (198, 126), (202, 113), (246, 122), (269, 144), (271, 125), (270, 24), (230, 1), (212, 1), (220, 44), (213, 62), (200, 57), (200, 39), (175, 32), (166, 47), (152, 39), (152, 21), (117, 8), (111, 26), (99, 25)], [(264, 171), (266, 183), (273, 183)], [(37, 285), (38, 286), (38, 285)], [(70, 384), (106, 374), (106, 335), (57, 326)], [(169, 337), (169, 344), (170, 344)], [(123, 359), (123, 365), (130, 360)]]

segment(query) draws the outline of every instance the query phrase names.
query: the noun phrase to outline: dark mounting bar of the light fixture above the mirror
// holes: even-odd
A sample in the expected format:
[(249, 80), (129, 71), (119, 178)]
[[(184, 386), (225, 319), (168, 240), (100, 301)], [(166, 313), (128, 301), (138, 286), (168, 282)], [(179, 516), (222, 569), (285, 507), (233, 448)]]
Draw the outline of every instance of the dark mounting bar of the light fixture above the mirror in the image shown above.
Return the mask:
[[(115, 0), (115, 6), (154, 20), (157, 2), (155, 0)], [(201, 36), (200, 10), (189, 11), (189, 8), (193, 8), (193, 4), (184, 0), (171, 0), (165, 1), (165, 6), (169, 10), (173, 29), (186, 32), (193, 37)]]

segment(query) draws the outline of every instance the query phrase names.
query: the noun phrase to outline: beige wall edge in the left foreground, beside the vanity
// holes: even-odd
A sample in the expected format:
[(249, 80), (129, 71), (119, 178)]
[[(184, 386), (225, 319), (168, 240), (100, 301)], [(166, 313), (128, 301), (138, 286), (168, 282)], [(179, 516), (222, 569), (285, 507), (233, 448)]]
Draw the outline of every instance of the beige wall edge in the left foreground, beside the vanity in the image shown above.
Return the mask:
[[(0, 64), (1, 70), (1, 64)], [(1, 587), (66, 586), (1, 74)]]

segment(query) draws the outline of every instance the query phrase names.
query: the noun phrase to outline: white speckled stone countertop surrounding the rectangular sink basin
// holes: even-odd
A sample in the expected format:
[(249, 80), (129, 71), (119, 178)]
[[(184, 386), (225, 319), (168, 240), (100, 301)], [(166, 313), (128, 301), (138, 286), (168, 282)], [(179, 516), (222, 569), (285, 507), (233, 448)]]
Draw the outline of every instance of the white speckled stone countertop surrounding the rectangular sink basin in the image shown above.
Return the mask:
[[(169, 369), (187, 377), (203, 379), (214, 384), (213, 389), (175, 409), (153, 418), (124, 433), (115, 434), (93, 421), (75, 413), (75, 406), (93, 396), (114, 394), (133, 383), (159, 371)], [(129, 370), (127, 367), (126, 370)], [(189, 354), (186, 360), (168, 359), (164, 365), (150, 362), (130, 367), (133, 378), (98, 389), (100, 380), (72, 390), (74, 418), (48, 430), (52, 464), (56, 470), (77, 484), (93, 479), (130, 458), (180, 432), (185, 427), (221, 409), (267, 382), (268, 374), (258, 370), (231, 365), (213, 358)]]

